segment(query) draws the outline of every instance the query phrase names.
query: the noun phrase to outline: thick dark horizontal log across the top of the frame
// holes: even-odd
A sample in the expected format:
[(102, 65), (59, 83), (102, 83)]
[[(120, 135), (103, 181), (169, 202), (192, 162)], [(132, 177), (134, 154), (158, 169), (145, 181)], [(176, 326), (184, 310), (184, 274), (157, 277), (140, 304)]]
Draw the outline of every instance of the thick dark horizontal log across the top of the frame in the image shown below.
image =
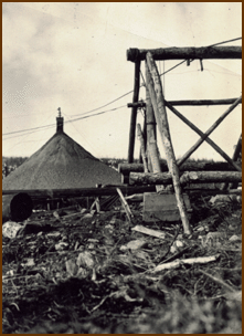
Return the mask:
[(127, 50), (127, 61), (145, 61), (146, 54), (150, 52), (153, 60), (241, 60), (242, 46), (201, 46), (201, 48), (159, 48), (159, 49), (135, 49)]

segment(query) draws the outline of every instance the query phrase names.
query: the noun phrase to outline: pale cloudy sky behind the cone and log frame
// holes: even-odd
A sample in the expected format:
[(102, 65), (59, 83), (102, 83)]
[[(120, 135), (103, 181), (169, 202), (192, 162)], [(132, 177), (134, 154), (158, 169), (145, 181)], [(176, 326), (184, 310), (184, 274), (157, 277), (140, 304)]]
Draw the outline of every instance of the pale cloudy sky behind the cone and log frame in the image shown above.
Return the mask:
[[(241, 2), (3, 2), (2, 155), (29, 157), (40, 149), (54, 135), (61, 107), (64, 132), (86, 150), (127, 159), (135, 72), (127, 50), (206, 46), (241, 36)], [(179, 62), (157, 62), (159, 73)], [(241, 63), (203, 60), (202, 72), (198, 60), (183, 63), (161, 76), (165, 98), (237, 98)], [(145, 62), (141, 73), (145, 77)], [(139, 99), (145, 97), (140, 87)], [(202, 132), (227, 107), (177, 106)], [(167, 114), (180, 158), (199, 136)], [(142, 127), (141, 111), (137, 123)], [(232, 156), (241, 132), (242, 104), (210, 138)], [(159, 136), (158, 146), (165, 158)], [(137, 136), (134, 156), (139, 157)], [(223, 160), (205, 143), (191, 157)]]

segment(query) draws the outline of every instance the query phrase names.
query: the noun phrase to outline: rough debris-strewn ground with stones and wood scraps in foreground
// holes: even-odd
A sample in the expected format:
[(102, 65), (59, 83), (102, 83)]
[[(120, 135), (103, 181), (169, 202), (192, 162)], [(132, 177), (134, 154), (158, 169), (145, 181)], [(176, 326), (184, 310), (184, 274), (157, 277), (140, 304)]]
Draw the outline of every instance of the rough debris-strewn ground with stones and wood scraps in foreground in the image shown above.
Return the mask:
[(190, 237), (138, 202), (33, 212), (3, 237), (2, 333), (242, 333), (242, 206), (191, 204)]

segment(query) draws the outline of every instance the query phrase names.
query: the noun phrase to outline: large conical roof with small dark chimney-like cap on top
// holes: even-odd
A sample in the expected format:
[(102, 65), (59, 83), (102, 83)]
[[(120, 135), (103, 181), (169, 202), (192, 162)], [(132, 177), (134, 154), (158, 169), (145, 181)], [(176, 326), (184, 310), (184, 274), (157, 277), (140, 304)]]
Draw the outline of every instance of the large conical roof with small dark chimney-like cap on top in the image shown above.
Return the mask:
[(61, 115), (56, 122), (54, 136), (2, 180), (2, 190), (95, 188), (96, 183), (121, 182), (120, 174), (63, 132)]

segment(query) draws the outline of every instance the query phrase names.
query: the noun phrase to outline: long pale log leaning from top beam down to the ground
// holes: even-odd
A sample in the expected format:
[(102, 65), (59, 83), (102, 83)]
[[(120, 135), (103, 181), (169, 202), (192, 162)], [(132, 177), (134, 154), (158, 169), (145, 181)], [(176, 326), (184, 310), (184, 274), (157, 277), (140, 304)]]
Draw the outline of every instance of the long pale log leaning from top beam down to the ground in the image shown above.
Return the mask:
[[(182, 220), (183, 224), (183, 230), (184, 233), (190, 234), (191, 229), (188, 220), (188, 212), (187, 208), (184, 206), (183, 197), (181, 195), (181, 186), (180, 186), (180, 176), (179, 176), (179, 169), (177, 166), (177, 160), (171, 143), (171, 137), (170, 137), (170, 130), (169, 130), (169, 124), (168, 124), (168, 118), (167, 118), (167, 112), (166, 107), (163, 104), (163, 93), (162, 93), (162, 86), (161, 86), (161, 81), (158, 74), (158, 70), (155, 63), (155, 60), (151, 55), (150, 52), (147, 53), (147, 62), (148, 66), (155, 83), (155, 90), (152, 88), (151, 91), (156, 92), (156, 99), (155, 96), (151, 96), (151, 102), (156, 115), (156, 120), (159, 127), (159, 133), (162, 139), (162, 145), (166, 151), (166, 158), (167, 158), (167, 164), (169, 167), (169, 172), (172, 176), (172, 181), (173, 181), (173, 187), (174, 187), (174, 192), (176, 192), (176, 199), (177, 199), (177, 206), (180, 212), (180, 217)], [(150, 85), (151, 86), (151, 85)]]

